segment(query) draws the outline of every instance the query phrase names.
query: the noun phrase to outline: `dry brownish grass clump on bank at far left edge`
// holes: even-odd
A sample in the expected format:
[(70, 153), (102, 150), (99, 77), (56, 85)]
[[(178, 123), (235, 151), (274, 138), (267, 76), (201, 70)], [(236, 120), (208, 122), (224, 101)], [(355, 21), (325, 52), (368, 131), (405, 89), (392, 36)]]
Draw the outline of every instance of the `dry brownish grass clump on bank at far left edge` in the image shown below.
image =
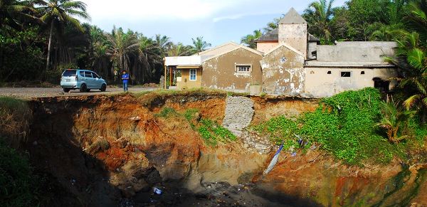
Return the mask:
[(0, 134), (10, 137), (7, 144), (18, 147), (26, 138), (32, 119), (28, 103), (13, 97), (0, 97)]

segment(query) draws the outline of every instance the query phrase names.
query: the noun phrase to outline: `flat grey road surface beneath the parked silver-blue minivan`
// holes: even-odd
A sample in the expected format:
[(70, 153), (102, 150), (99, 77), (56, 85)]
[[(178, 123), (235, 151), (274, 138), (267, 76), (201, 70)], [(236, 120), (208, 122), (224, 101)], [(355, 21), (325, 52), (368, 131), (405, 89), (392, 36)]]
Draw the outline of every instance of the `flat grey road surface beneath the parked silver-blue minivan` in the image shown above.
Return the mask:
[[(149, 87), (130, 87), (129, 92), (144, 92), (155, 90)], [(105, 92), (99, 90), (90, 90), (90, 92), (79, 92), (78, 90), (71, 90), (70, 92), (63, 92), (60, 87), (0, 87), (0, 96), (11, 96), (19, 98), (32, 98), (32, 97), (53, 97), (53, 96), (79, 96), (79, 95), (102, 95), (102, 94), (115, 94), (123, 92), (119, 87), (108, 87)]]

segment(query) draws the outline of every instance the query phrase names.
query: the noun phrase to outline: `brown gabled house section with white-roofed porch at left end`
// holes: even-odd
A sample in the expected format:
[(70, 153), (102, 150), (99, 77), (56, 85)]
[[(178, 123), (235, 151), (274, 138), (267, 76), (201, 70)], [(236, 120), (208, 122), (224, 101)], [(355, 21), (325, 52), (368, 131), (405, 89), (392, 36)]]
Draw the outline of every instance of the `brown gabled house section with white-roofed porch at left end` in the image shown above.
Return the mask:
[[(165, 66), (169, 77), (180, 76), (175, 78), (179, 90), (208, 87), (248, 91), (250, 85), (263, 81), (261, 58), (260, 51), (230, 42), (191, 56), (167, 57)], [(174, 85), (174, 81), (169, 84)]]

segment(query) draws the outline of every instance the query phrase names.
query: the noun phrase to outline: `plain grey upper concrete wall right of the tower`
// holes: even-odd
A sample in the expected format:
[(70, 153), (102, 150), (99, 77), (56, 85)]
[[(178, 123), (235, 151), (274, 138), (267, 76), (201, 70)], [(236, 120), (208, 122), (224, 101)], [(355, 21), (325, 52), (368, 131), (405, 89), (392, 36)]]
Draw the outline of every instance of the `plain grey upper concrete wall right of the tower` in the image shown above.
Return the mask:
[(394, 55), (394, 42), (344, 42), (336, 46), (317, 46), (317, 61), (383, 62)]

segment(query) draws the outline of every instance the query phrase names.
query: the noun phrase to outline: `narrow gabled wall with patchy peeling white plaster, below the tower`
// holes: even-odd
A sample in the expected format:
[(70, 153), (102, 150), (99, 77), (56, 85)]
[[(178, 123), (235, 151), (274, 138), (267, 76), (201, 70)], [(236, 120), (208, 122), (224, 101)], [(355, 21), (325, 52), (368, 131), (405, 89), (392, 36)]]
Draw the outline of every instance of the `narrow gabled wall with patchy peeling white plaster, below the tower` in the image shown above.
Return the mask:
[(268, 53), (261, 60), (264, 92), (295, 95), (304, 92), (304, 57), (286, 46)]

